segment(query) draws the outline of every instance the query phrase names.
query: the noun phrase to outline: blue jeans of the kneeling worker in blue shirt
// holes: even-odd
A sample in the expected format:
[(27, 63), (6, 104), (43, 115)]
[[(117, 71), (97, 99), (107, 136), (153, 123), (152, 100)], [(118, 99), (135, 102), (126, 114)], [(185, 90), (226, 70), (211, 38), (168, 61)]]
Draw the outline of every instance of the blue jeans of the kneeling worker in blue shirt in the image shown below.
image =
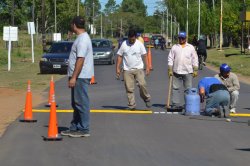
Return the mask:
[(221, 107), (228, 107), (230, 102), (229, 92), (226, 90), (218, 90), (210, 93), (206, 99), (206, 113), (211, 115), (214, 109), (221, 110)]

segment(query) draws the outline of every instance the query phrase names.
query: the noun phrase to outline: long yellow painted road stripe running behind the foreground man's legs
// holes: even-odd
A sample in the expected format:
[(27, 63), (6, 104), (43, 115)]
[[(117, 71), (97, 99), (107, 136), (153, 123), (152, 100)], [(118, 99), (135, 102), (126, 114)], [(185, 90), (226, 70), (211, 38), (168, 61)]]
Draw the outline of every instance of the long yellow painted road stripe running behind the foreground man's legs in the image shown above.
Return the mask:
[[(32, 110), (33, 112), (50, 112), (50, 110)], [(73, 110), (56, 110), (56, 112), (70, 113)], [(152, 114), (150, 110), (90, 110), (92, 113), (120, 113), (120, 114)]]

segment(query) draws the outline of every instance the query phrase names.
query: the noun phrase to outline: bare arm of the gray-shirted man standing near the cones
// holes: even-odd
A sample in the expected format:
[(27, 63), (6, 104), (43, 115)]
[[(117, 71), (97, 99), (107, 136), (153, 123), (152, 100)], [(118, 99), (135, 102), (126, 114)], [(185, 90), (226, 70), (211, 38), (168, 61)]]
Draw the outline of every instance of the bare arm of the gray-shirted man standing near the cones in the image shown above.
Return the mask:
[(69, 88), (75, 87), (76, 79), (78, 78), (78, 76), (82, 70), (84, 60), (85, 60), (84, 57), (78, 57), (76, 59), (75, 69), (74, 69), (73, 75), (70, 78), (69, 83), (68, 83)]

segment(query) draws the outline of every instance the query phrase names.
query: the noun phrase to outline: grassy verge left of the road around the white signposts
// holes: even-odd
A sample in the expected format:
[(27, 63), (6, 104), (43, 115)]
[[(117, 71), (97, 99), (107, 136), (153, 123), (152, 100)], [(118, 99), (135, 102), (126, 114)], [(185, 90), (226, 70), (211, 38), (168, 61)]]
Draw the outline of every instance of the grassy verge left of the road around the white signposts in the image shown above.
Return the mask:
[[(11, 70), (8, 71), (8, 49), (5, 48), (5, 42), (0, 41), (0, 87), (26, 90), (28, 80), (31, 81), (33, 91), (44, 90), (49, 86), (52, 75), (41, 75), (39, 71), (39, 60), (43, 54), (41, 44), (34, 47), (35, 63), (32, 63), (30, 36), (21, 34), (18, 46), (16, 42), (13, 43)], [(58, 80), (65, 75), (57, 74), (53, 76), (54, 80)]]

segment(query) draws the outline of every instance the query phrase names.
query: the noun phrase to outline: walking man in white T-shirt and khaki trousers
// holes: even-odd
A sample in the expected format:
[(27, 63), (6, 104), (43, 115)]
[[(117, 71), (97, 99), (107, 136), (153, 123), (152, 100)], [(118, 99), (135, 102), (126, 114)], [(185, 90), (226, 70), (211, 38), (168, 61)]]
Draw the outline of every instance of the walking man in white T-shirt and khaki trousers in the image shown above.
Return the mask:
[(125, 88), (128, 96), (128, 107), (135, 110), (135, 81), (140, 89), (140, 96), (144, 100), (146, 106), (151, 107), (150, 94), (146, 88), (144, 75), (144, 62), (146, 64), (146, 75), (149, 75), (150, 69), (147, 62), (147, 52), (144, 45), (136, 39), (136, 32), (129, 30), (128, 40), (124, 41), (117, 52), (116, 76), (119, 78), (121, 74), (120, 65), (123, 63), (123, 77)]

